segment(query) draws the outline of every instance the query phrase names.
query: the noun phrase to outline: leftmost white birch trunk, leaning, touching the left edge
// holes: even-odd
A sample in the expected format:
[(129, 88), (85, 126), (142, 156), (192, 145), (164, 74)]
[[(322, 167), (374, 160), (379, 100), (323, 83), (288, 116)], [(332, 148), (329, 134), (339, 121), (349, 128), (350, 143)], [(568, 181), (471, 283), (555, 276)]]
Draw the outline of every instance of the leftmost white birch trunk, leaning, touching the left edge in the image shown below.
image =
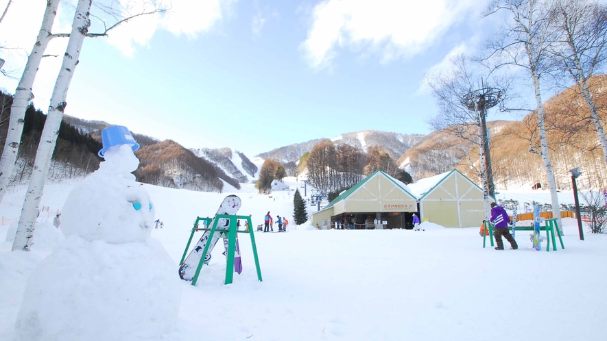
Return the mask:
[(2, 202), (5, 190), (8, 186), (8, 181), (10, 181), (10, 177), (14, 170), (17, 155), (19, 155), (19, 144), (21, 143), (21, 135), (23, 134), (25, 110), (27, 110), (29, 101), (34, 99), (32, 86), (34, 85), (34, 79), (36, 79), (36, 73), (40, 66), (40, 60), (43, 58), (44, 51), (49, 45), (49, 41), (53, 38), (51, 35), (51, 27), (53, 26), (53, 21), (55, 21), (58, 5), (59, 0), (47, 1), (47, 9), (45, 10), (45, 16), (42, 25), (40, 26), (40, 31), (38, 32), (38, 38), (32, 48), (32, 53), (29, 53), (23, 75), (21, 75), (19, 85), (17, 85), (15, 90), (14, 99), (10, 108), (8, 133), (6, 140), (4, 141), (2, 157), (0, 158), (0, 203)]

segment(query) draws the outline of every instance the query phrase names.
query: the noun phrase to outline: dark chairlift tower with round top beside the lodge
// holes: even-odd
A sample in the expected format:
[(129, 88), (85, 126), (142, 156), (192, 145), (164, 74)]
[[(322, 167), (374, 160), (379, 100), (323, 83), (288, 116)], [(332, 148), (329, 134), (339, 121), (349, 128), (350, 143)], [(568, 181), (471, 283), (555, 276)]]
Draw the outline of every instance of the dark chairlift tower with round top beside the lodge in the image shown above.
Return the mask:
[(487, 129), (487, 110), (495, 107), (501, 101), (502, 91), (497, 88), (491, 88), (484, 84), (481, 79), (481, 88), (478, 90), (470, 90), (462, 98), (462, 104), (466, 105), (468, 110), (471, 110), (479, 116), (481, 121), (482, 144), (485, 154), (485, 173), (487, 176), (489, 195), (495, 199), (495, 184), (493, 183), (493, 167), (491, 165), (491, 153), (489, 149), (490, 134)]

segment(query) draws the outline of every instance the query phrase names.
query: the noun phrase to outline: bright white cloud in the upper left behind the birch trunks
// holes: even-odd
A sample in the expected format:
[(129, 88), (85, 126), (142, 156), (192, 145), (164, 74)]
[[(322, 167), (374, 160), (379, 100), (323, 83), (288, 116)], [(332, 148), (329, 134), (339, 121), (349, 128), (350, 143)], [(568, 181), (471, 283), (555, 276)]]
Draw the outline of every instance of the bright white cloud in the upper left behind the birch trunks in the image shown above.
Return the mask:
[[(117, 2), (118, 1), (118, 2)], [(141, 12), (145, 5), (149, 11), (152, 0), (98, 0), (93, 4), (112, 4), (115, 8), (123, 8), (131, 14)], [(209, 31), (213, 26), (230, 14), (237, 0), (163, 0), (163, 3), (171, 8), (167, 14), (154, 14), (138, 16), (132, 21), (123, 23), (112, 29), (108, 35), (108, 42), (119, 49), (123, 55), (132, 57), (136, 46), (145, 46), (158, 29), (167, 29), (173, 34), (185, 34), (195, 38), (204, 31)], [(0, 8), (5, 8), (7, 1), (0, 0)], [(156, 1), (158, 2), (158, 1)], [(58, 14), (53, 23), (53, 34), (69, 33), (73, 21), (76, 0), (60, 1)], [(117, 5), (119, 3), (119, 5)], [(7, 15), (0, 23), (0, 58), (5, 60), (4, 71), (8, 71), (12, 77), (0, 75), (0, 88), (14, 92), (23, 68), (27, 62), (27, 56), (32, 51), (36, 42), (40, 23), (46, 8), (46, 1), (13, 1)], [(91, 9), (93, 16), (108, 18), (99, 8)], [(91, 18), (91, 33), (101, 33), (103, 23), (98, 18)], [(108, 21), (108, 24), (115, 21)], [(105, 38), (95, 38), (105, 39)], [(38, 75), (32, 89), (35, 95), (34, 104), (36, 108), (47, 110), (53, 86), (62, 63), (62, 55), (67, 47), (68, 38), (54, 38), (49, 43), (45, 54), (57, 55), (58, 57), (43, 58)], [(86, 41), (84, 49), (87, 48)], [(68, 107), (69, 108), (69, 107)]]

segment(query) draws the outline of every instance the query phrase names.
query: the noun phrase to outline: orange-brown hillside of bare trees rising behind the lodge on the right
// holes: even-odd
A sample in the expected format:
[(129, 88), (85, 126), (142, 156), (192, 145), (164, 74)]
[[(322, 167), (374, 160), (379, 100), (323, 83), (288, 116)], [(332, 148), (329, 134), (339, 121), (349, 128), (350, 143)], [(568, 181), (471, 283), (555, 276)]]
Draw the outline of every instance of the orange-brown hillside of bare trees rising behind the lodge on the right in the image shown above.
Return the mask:
[[(607, 119), (605, 88), (607, 75), (590, 81), (593, 98), (603, 124)], [(568, 88), (546, 101), (545, 126), (549, 154), (553, 160), (557, 187), (571, 189), (570, 169), (579, 167), (580, 188), (604, 189), (607, 186), (607, 166), (601, 145), (592, 124), (590, 112), (577, 88)], [(491, 159), (496, 188), (513, 186), (532, 188), (547, 185), (546, 172), (537, 151), (539, 149), (538, 121), (534, 112), (522, 121), (488, 122), (491, 136)], [(477, 184), (480, 179), (471, 164), (477, 164), (478, 151), (470, 144), (449, 134), (448, 129), (434, 131), (417, 146), (409, 149), (398, 164), (409, 170), (414, 179), (422, 179), (457, 168)]]

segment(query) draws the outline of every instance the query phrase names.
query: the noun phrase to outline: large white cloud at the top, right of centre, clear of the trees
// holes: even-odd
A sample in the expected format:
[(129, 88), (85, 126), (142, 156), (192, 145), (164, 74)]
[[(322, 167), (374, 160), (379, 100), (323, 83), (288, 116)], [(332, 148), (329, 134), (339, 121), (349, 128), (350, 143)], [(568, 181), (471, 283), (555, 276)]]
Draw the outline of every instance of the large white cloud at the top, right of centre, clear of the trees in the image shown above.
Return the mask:
[(381, 61), (410, 58), (431, 46), (481, 0), (325, 0), (311, 11), (300, 48), (313, 68), (330, 67), (340, 49), (381, 53)]

